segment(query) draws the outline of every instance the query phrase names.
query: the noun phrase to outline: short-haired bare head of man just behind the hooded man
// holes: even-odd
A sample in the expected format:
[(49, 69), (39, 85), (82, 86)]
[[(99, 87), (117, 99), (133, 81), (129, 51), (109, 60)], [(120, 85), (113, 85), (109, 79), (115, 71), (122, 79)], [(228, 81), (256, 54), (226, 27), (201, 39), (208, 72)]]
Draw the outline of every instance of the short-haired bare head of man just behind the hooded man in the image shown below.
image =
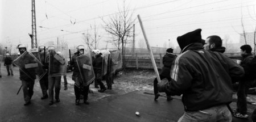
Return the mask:
[(226, 49), (225, 47), (222, 47), (221, 37), (216, 35), (207, 37), (204, 48), (209, 51), (220, 52), (220, 53), (224, 53)]

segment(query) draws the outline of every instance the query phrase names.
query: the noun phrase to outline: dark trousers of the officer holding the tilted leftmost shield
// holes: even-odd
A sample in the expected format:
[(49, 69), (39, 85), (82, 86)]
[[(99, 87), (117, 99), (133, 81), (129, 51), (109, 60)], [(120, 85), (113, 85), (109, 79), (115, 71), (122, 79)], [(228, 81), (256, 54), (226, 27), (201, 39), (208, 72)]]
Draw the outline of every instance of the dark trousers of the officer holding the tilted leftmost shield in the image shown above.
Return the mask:
[(32, 95), (34, 94), (34, 80), (22, 80), (22, 90), (25, 102), (29, 102)]

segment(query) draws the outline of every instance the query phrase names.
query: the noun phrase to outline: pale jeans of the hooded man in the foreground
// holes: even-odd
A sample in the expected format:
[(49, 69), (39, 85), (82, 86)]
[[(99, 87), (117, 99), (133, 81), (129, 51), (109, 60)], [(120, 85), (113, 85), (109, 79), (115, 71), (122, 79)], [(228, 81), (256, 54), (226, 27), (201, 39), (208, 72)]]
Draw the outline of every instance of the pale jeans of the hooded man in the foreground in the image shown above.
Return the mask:
[(232, 121), (232, 114), (226, 105), (214, 106), (200, 111), (186, 111), (178, 122), (187, 121)]

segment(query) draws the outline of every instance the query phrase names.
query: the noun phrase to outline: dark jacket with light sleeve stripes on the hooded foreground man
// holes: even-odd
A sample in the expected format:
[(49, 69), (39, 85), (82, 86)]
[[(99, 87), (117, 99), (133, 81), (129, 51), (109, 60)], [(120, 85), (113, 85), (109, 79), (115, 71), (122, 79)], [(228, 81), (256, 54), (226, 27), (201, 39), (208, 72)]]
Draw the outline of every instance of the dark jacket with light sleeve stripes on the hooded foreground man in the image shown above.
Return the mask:
[(172, 81), (162, 86), (171, 95), (181, 95), (185, 111), (198, 111), (232, 102), (232, 78), (243, 68), (222, 53), (206, 51), (201, 43), (184, 47), (171, 69)]

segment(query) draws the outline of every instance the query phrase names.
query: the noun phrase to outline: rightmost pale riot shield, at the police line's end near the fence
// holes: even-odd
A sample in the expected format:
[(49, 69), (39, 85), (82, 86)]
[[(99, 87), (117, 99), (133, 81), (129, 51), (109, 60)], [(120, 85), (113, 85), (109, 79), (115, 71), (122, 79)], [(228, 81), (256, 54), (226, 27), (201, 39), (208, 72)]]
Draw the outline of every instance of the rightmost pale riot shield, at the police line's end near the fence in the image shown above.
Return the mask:
[[(122, 68), (122, 58), (118, 50), (110, 51), (110, 73), (115, 73), (115, 70)], [(121, 66), (121, 68), (119, 68)]]

